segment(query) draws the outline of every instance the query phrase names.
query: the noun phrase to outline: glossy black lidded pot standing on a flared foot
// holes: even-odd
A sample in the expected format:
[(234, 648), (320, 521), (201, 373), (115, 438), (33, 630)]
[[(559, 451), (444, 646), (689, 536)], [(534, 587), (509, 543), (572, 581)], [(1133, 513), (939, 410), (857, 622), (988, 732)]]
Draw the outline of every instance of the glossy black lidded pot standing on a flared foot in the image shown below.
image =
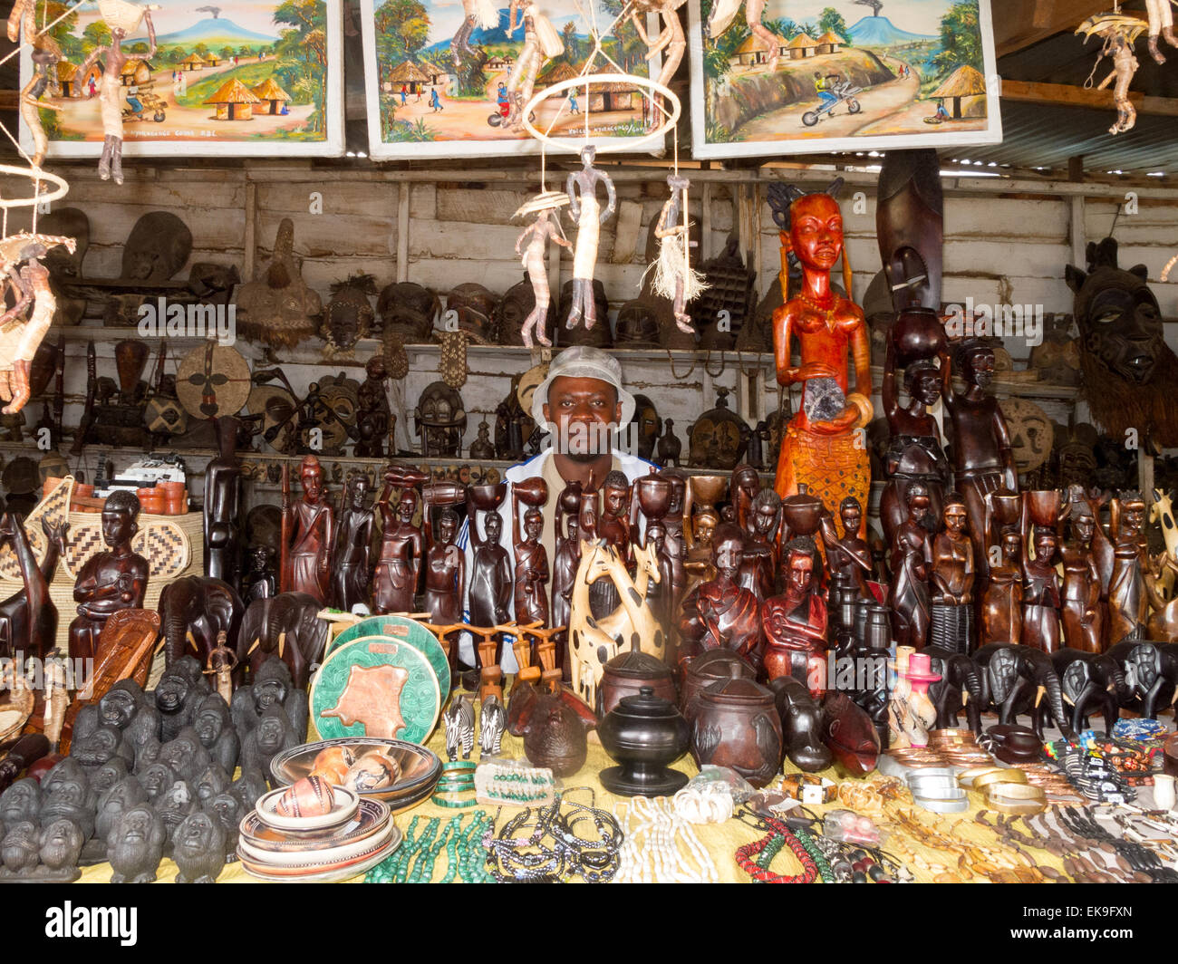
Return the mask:
[(597, 727), (601, 745), (621, 766), (601, 772), (601, 783), (621, 797), (666, 797), (687, 783), (687, 774), (668, 770), (687, 753), (690, 733), (675, 704), (643, 686), (605, 714)]

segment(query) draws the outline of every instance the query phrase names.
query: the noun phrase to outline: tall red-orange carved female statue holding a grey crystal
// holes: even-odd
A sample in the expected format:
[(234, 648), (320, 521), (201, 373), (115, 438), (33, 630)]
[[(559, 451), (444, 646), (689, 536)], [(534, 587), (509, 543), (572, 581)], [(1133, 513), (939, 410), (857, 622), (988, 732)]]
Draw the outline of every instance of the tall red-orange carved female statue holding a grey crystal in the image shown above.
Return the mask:
[[(841, 186), (835, 181), (832, 190)], [(786, 200), (789, 202), (788, 212)], [(809, 487), (834, 511), (848, 495), (867, 504), (871, 462), (855, 429), (872, 418), (871, 338), (863, 311), (830, 288), (830, 270), (842, 255), (842, 214), (832, 193), (802, 194), (795, 187), (770, 190), (769, 204), (781, 231), (782, 291), (787, 256), (802, 268), (802, 289), (773, 312), (777, 382), (802, 383), (802, 404), (789, 421), (777, 458), (775, 488), (782, 498)], [(801, 364), (794, 368), (796, 337)], [(848, 356), (855, 371), (848, 391)], [(862, 517), (861, 537), (867, 535)]]

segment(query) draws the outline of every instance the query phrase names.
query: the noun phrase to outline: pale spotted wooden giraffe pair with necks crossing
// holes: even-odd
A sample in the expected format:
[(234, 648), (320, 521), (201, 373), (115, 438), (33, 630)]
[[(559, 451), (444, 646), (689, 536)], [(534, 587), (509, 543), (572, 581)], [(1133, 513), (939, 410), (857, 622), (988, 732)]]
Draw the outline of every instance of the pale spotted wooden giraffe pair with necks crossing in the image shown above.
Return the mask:
[[(635, 546), (634, 556), (638, 568), (631, 580), (617, 550), (604, 540), (581, 542), (581, 564), (573, 582), (569, 647), (573, 692), (589, 706), (596, 705), (602, 667), (618, 653), (641, 649), (662, 658), (662, 629), (646, 603), (650, 580), (659, 582), (657, 553), (653, 544), (646, 549)], [(617, 587), (622, 603), (595, 620), (589, 612), (589, 586), (607, 575)]]

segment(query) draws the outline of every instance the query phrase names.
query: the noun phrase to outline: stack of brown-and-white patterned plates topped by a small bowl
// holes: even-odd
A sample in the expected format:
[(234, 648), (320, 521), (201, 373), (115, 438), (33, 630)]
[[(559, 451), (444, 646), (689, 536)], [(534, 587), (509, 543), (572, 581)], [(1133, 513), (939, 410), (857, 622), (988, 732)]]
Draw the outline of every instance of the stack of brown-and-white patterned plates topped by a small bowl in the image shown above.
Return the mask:
[(375, 867), (401, 845), (401, 830), (380, 800), (333, 787), (331, 813), (289, 817), (276, 807), (284, 792), (265, 794), (241, 820), (237, 856), (252, 877), (289, 883), (346, 880)]

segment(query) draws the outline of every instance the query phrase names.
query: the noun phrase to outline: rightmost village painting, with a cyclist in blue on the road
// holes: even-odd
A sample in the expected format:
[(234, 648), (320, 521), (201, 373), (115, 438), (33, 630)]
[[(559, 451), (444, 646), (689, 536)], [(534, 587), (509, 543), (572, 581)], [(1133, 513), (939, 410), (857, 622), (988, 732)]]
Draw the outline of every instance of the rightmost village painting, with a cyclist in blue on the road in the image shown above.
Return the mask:
[(990, 0), (688, 0), (697, 158), (995, 144)]

